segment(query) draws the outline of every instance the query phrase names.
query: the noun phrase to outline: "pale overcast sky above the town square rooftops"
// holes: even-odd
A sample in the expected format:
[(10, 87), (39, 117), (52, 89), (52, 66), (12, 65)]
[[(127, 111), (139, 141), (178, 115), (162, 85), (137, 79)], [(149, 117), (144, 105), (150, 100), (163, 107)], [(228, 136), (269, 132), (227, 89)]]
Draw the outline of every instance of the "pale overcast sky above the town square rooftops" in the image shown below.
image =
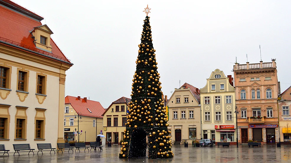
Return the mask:
[[(66, 95), (90, 97), (104, 108), (131, 84), (142, 32), (151, 30), (162, 91), (185, 82), (203, 88), (215, 69), (233, 75), (240, 64), (276, 58), (281, 92), (291, 85), (291, 1), (73, 1), (14, 0), (45, 18), (52, 38), (74, 64)], [(232, 62), (232, 63), (231, 63)]]

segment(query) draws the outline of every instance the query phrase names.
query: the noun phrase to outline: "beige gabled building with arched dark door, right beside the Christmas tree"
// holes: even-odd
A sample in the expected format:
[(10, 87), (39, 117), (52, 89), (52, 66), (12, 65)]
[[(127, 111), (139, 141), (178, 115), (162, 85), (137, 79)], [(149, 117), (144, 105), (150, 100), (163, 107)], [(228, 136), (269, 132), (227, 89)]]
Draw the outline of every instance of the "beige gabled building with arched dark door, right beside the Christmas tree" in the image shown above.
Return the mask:
[(174, 144), (182, 144), (184, 141), (192, 144), (193, 140), (200, 140), (200, 90), (188, 83), (179, 89), (175, 88), (169, 98), (169, 126), (171, 139)]

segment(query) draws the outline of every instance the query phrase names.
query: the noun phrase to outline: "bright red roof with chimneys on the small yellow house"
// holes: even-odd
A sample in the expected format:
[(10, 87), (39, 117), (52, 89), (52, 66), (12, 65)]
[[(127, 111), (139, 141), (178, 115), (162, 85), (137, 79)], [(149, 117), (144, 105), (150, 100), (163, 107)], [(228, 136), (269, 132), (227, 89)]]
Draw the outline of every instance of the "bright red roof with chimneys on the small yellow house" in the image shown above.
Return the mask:
[[(65, 104), (71, 104), (76, 112), (80, 112), (83, 116), (87, 117), (97, 117), (103, 118), (102, 114), (105, 109), (102, 107), (100, 102), (88, 100), (87, 102), (84, 99), (78, 99), (78, 97), (66, 96)], [(90, 113), (89, 110), (92, 112)]]

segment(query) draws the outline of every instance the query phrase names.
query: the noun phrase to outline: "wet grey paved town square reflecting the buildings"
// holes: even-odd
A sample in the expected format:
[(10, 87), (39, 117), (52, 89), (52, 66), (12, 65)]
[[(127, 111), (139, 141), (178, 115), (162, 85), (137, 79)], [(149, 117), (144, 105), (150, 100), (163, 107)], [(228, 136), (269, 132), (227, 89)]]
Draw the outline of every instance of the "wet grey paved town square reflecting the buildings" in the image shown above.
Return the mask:
[(28, 156), (28, 152), (20, 152), (20, 156), (13, 156), (11, 150), (10, 156), (0, 157), (0, 162), (291, 162), (291, 147), (287, 145), (277, 148), (275, 145), (262, 145), (258, 147), (248, 147), (248, 145), (235, 145), (228, 147), (193, 147), (189, 145), (173, 145), (174, 158), (170, 159), (148, 159), (146, 157), (133, 159), (120, 159), (119, 145), (112, 147), (103, 147), (103, 151), (76, 152), (50, 154), (49, 151), (44, 154)]

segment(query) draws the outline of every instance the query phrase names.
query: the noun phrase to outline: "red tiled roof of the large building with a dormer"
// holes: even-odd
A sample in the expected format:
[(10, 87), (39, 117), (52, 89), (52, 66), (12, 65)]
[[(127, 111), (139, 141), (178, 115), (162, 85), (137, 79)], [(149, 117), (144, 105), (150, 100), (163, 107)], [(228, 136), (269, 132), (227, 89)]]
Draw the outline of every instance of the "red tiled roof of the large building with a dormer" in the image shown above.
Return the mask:
[(34, 27), (41, 26), (42, 24), (40, 21), (31, 19), (10, 9), (6, 9), (3, 6), (0, 6), (0, 15), (0, 41), (31, 50), (36, 53), (41, 53), (55, 59), (60, 59), (61, 61), (65, 61), (71, 64), (63, 52), (55, 44), (53, 39), (50, 41), (52, 46), (52, 53), (36, 48), (35, 44), (33, 43), (34, 39), (32, 38), (30, 31), (32, 31)]

